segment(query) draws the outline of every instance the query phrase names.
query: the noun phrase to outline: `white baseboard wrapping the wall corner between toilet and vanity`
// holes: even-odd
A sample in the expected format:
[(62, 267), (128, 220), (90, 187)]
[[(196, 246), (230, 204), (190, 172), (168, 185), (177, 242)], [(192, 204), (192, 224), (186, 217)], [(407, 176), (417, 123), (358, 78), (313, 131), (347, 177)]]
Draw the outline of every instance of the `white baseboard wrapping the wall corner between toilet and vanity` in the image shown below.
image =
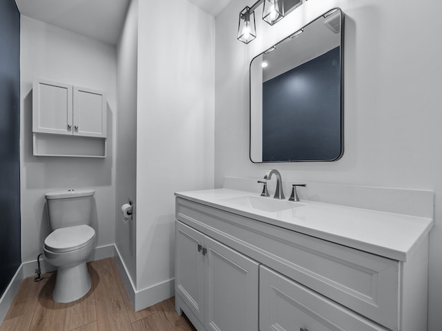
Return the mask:
[(137, 290), (129, 272), (127, 271), (126, 265), (119, 254), (117, 246), (115, 246), (115, 261), (117, 262), (119, 272), (122, 275), (123, 283), (128, 292), (129, 299), (131, 300), (132, 308), (136, 312), (175, 295), (175, 279), (168, 279), (161, 283), (149, 286), (148, 288), (144, 288), (143, 290)]

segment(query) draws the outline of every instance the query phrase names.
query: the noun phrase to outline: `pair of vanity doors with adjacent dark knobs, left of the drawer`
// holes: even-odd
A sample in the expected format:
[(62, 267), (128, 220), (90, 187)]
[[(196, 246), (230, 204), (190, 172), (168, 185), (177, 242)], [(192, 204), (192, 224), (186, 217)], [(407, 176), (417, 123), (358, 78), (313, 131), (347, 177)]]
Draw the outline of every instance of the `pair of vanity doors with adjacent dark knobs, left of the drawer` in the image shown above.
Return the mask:
[(258, 330), (258, 263), (183, 223), (175, 235), (175, 300), (198, 330)]

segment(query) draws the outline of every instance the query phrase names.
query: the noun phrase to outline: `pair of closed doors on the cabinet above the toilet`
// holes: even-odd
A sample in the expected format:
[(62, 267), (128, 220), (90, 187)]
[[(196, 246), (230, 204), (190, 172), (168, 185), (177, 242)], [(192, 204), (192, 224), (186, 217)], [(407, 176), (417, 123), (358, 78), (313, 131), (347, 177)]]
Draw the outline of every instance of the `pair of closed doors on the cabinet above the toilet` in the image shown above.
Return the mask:
[(34, 79), (32, 130), (44, 134), (106, 138), (106, 94)]

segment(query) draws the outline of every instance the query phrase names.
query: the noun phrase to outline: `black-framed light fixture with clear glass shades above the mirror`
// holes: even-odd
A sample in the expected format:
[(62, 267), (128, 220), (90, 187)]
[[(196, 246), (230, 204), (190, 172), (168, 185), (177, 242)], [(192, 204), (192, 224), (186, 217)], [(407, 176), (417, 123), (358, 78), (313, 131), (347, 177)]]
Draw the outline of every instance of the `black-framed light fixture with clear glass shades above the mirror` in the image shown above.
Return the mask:
[(291, 10), (300, 6), (302, 0), (258, 0), (250, 8), (247, 6), (240, 12), (238, 23), (239, 41), (249, 43), (256, 38), (255, 10), (261, 3), (264, 3), (262, 19), (273, 26), (274, 23), (289, 14)]

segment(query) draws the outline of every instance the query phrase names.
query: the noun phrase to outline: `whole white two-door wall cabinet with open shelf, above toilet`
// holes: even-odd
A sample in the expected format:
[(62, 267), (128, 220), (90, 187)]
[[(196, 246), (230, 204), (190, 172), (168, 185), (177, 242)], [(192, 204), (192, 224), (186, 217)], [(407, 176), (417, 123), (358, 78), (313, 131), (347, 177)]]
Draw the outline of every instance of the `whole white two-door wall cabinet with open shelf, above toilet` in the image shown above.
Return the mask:
[(34, 155), (106, 157), (106, 114), (102, 91), (34, 79)]

